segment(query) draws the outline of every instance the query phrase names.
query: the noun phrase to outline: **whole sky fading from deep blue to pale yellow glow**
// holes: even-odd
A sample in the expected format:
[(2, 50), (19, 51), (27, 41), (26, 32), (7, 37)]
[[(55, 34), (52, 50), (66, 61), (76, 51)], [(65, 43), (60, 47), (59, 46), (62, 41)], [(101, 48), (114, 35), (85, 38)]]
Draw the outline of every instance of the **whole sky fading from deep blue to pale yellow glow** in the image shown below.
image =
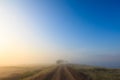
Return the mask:
[(0, 0), (0, 65), (120, 67), (118, 0)]

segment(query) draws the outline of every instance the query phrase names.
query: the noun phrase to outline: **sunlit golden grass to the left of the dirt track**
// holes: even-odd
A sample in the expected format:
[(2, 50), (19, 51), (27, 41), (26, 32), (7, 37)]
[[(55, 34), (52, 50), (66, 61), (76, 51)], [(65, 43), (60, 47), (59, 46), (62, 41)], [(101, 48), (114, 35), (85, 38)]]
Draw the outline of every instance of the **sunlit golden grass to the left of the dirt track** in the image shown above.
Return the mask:
[(25, 66), (25, 67), (15, 67), (15, 66), (7, 66), (0, 67), (0, 80), (22, 80), (26, 77), (32, 76), (44, 68), (48, 68), (49, 66)]

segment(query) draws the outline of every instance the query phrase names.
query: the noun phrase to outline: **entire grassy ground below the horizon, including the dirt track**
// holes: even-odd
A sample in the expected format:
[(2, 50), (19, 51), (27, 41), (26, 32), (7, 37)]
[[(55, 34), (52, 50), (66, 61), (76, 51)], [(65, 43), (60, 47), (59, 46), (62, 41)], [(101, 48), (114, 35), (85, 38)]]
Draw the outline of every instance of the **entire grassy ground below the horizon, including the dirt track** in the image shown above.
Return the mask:
[(0, 80), (120, 80), (120, 69), (78, 65), (0, 68)]

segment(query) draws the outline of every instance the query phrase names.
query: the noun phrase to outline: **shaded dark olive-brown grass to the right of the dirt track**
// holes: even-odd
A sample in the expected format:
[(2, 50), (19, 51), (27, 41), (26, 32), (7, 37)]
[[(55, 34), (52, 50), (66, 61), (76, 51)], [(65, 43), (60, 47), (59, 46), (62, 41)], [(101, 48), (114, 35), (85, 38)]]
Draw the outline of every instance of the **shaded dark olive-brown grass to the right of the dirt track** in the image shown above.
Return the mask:
[(84, 73), (92, 80), (120, 80), (120, 69), (72, 65), (79, 73)]

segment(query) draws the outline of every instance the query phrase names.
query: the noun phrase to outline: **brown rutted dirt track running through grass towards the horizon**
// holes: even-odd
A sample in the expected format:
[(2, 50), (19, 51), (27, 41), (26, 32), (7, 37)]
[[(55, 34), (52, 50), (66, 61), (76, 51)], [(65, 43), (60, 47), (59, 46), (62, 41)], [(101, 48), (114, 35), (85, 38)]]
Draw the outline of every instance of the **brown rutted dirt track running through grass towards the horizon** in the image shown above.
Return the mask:
[(60, 65), (57, 68), (35, 77), (25, 80), (91, 80), (87, 75), (79, 73), (76, 70)]

